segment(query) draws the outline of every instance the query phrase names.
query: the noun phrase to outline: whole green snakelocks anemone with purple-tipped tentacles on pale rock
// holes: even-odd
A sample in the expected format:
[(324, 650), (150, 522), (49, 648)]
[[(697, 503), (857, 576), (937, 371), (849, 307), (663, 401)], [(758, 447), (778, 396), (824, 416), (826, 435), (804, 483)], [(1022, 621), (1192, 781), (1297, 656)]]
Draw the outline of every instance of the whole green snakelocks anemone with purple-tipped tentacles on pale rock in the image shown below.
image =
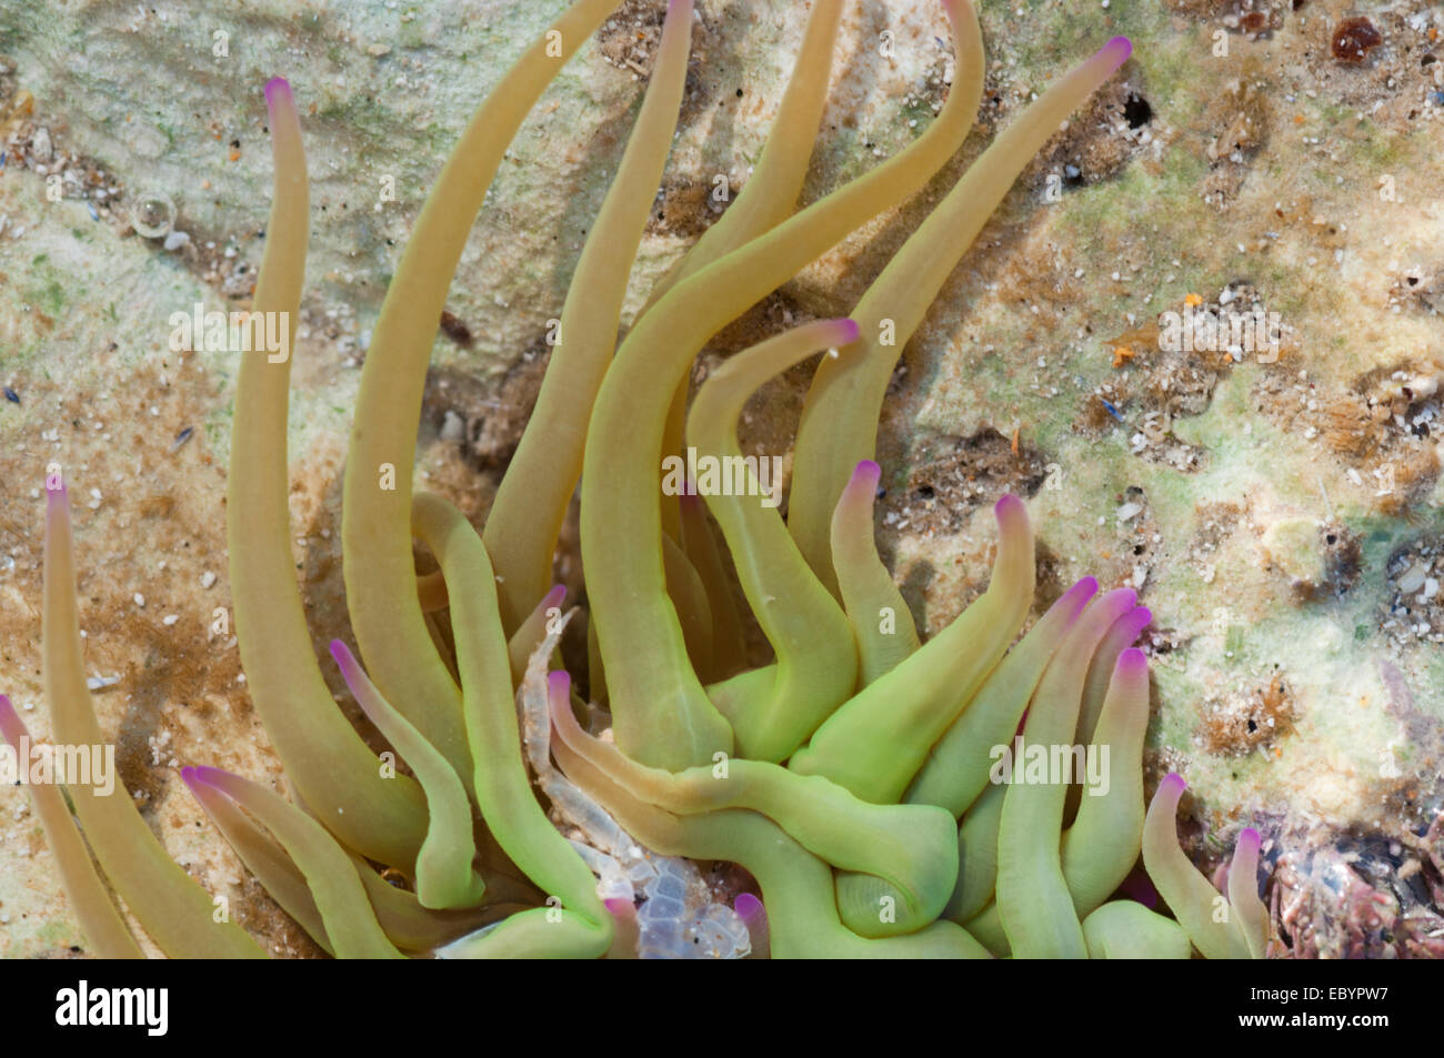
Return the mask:
[[(358, 650), (336, 641), (331, 657), (391, 746), (380, 756), (332, 700), (296, 585), (290, 349), (243, 358), (227, 497), (234, 619), (287, 795), (208, 766), (185, 768), (192, 794), (336, 957), (1262, 957), (1258, 834), (1245, 831), (1225, 896), (1178, 847), (1181, 779), (1164, 781), (1145, 818), (1149, 680), (1134, 642), (1151, 613), (1134, 590), (1087, 577), (1028, 626), (1032, 527), (1009, 495), (986, 592), (923, 642), (874, 540), (875, 432), (902, 345), (1018, 173), (1129, 58), (1126, 39), (1002, 128), (848, 318), (734, 355), (689, 404), (692, 362), (716, 332), (957, 153), (983, 51), (969, 0), (943, 0), (957, 69), (946, 105), (905, 150), (797, 211), (843, 6), (817, 0), (744, 192), (618, 345), (687, 72), (692, 0), (671, 0), (484, 531), (413, 488), (432, 338), (468, 227), (527, 113), (617, 4), (578, 0), (477, 111), (374, 329), (342, 495)], [(310, 222), (302, 123), (283, 79), (266, 102), (274, 199), (253, 315), (290, 320)], [(738, 417), (767, 380), (822, 351), (784, 518), (780, 482), (741, 452)], [(552, 583), (578, 485), (585, 684), (559, 651), (579, 611)], [(64, 468), (46, 469), (46, 492), (55, 742), (98, 745)], [(417, 572), (417, 541), (430, 573)], [(773, 651), (761, 667), (747, 663), (734, 583)], [(3, 697), (0, 730), (27, 739)], [(118, 896), (168, 956), (263, 956), (123, 788), (69, 778), (68, 801), (53, 784), (30, 792), (97, 954), (142, 954)], [(1121, 896), (1139, 856), (1171, 915)], [(719, 878), (699, 862), (744, 870)]]

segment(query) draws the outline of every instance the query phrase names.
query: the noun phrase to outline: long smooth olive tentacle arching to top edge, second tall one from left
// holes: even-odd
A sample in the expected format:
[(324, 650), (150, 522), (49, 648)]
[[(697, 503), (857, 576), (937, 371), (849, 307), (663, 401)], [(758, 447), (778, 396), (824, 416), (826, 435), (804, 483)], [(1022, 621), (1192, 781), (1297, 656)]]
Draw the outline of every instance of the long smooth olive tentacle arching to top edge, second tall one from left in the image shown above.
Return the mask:
[[(401, 253), (357, 391), (341, 498), (351, 625), (377, 687), (400, 703), (468, 790), (474, 769), (462, 696), (427, 631), (412, 559), (412, 478), (426, 364), (469, 234), (469, 225), (458, 218), (477, 215), (531, 104), (618, 1), (572, 4), (472, 115)], [(523, 605), (531, 605), (540, 593), (539, 586)]]

